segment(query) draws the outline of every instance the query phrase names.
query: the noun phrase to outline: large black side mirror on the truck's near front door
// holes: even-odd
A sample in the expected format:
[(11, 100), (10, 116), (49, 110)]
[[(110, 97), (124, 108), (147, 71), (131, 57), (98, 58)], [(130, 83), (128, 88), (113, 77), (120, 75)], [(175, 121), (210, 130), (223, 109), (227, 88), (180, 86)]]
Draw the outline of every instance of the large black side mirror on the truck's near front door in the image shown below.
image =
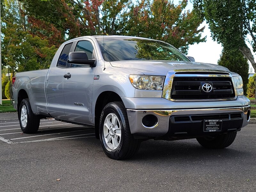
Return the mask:
[(96, 60), (88, 59), (86, 52), (70, 52), (68, 55), (68, 63), (96, 67)]

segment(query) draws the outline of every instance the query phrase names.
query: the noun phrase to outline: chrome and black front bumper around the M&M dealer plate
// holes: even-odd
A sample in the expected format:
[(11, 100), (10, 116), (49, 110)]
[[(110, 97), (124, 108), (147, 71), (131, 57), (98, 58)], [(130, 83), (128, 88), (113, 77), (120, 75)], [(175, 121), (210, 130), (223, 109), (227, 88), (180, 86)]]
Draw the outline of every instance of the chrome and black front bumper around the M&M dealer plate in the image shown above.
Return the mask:
[[(193, 108), (193, 109), (127, 109), (131, 133), (148, 137), (198, 137), (214, 133), (203, 132), (202, 119), (218, 119), (216, 115), (225, 116), (223, 118), (222, 131), (239, 131), (246, 126), (250, 120), (251, 106), (226, 107), (226, 108)], [(249, 113), (249, 114), (248, 114)], [(236, 116), (241, 114), (241, 116)], [(247, 116), (248, 114), (248, 116)], [(157, 124), (146, 127), (142, 124), (144, 116), (154, 115), (157, 117)], [(187, 121), (175, 121), (176, 116), (188, 116)], [(191, 116), (197, 116), (197, 120), (192, 120)], [(200, 117), (200, 118), (199, 118)], [(232, 118), (233, 117), (233, 118)], [(239, 118), (238, 118), (239, 117)], [(215, 132), (216, 134), (216, 132)]]

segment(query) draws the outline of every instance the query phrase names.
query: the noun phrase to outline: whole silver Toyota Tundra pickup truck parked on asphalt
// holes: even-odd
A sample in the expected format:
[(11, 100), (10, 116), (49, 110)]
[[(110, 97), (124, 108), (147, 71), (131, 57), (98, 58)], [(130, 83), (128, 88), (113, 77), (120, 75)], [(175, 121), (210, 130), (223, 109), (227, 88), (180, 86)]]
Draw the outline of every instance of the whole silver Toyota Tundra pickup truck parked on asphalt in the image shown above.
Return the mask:
[(148, 139), (196, 138), (205, 148), (228, 147), (250, 120), (242, 78), (188, 58), (170, 44), (146, 38), (67, 41), (49, 69), (13, 78), (21, 130), (37, 132), (46, 117), (93, 126), (113, 159), (131, 157)]

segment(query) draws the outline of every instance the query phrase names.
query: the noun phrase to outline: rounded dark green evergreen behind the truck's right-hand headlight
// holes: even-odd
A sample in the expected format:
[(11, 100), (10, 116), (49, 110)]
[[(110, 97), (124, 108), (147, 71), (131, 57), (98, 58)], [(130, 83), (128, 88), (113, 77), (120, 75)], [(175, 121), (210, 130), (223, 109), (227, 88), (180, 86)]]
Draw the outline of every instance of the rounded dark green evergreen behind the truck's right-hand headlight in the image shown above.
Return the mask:
[(223, 49), (220, 59), (218, 60), (218, 65), (224, 66), (230, 71), (239, 74), (243, 79), (244, 93), (246, 93), (249, 64), (244, 55), (239, 50), (230, 52)]

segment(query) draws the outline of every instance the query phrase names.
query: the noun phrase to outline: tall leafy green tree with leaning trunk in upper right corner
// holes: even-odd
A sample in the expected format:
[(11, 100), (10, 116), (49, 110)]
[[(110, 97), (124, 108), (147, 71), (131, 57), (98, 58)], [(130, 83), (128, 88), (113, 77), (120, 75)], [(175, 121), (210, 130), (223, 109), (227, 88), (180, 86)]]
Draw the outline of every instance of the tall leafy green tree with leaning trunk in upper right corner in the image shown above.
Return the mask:
[[(193, 0), (197, 13), (206, 19), (212, 37), (228, 50), (239, 50), (251, 62), (256, 72), (253, 52), (256, 52), (255, 0)], [(249, 40), (250, 36), (252, 40)], [(246, 43), (252, 45), (252, 50)]]

